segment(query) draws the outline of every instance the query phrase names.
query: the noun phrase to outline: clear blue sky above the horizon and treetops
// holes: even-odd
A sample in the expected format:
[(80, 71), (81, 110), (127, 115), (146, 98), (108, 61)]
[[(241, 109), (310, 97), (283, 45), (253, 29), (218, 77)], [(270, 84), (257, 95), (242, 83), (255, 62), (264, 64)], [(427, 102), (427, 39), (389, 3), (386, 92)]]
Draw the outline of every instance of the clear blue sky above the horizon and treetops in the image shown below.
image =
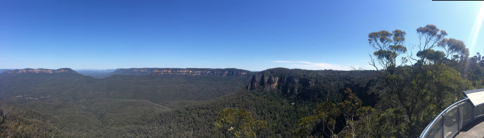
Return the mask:
[[(368, 33), (427, 24), (484, 53), (480, 1), (0, 0), (0, 69), (372, 69)], [(483, 13), (483, 14), (479, 14)]]

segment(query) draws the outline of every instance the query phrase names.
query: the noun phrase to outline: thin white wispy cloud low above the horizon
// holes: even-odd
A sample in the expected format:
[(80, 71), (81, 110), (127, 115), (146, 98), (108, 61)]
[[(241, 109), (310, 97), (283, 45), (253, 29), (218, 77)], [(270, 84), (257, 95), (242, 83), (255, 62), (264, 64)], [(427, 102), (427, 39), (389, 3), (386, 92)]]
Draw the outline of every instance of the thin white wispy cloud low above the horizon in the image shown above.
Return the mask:
[(275, 63), (293, 63), (287, 64), (288, 66), (298, 67), (299, 69), (336, 69), (336, 70), (349, 70), (349, 67), (328, 64), (328, 63), (313, 63), (307, 61), (271, 61)]

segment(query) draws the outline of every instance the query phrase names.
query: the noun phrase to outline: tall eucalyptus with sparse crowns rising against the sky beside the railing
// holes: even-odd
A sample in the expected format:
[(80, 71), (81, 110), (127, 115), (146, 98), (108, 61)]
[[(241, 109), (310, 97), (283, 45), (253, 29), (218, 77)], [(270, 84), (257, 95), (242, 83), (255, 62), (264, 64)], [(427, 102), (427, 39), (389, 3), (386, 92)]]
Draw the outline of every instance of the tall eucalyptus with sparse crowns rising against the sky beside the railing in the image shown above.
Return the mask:
[[(461, 78), (455, 67), (469, 56), (463, 41), (446, 39), (447, 32), (435, 25), (416, 29), (417, 44), (410, 46), (418, 52), (413, 55), (405, 44), (407, 33), (402, 30), (378, 31), (368, 34), (370, 47), (376, 51), (370, 55), (369, 64), (380, 74), (388, 87), (388, 98), (394, 98), (404, 110), (410, 136), (421, 131), (429, 115), (459, 98), (460, 91), (471, 88), (468, 81)], [(400, 56), (406, 54), (404, 56)], [(398, 58), (400, 57), (400, 58)], [(400, 64), (397, 66), (397, 59)], [(410, 65), (406, 65), (410, 63)], [(452, 68), (454, 67), (454, 68)], [(385, 103), (381, 103), (385, 104)], [(422, 123), (423, 122), (423, 123)]]

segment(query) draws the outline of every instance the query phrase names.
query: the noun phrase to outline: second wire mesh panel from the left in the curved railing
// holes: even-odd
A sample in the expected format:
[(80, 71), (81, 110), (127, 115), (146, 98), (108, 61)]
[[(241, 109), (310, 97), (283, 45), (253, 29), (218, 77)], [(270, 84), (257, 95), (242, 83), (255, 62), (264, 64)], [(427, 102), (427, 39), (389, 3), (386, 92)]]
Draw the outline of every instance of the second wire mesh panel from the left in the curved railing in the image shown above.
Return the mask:
[(448, 110), (444, 115), (444, 138), (453, 138), (454, 135), (459, 131), (457, 129), (457, 107), (453, 107)]

